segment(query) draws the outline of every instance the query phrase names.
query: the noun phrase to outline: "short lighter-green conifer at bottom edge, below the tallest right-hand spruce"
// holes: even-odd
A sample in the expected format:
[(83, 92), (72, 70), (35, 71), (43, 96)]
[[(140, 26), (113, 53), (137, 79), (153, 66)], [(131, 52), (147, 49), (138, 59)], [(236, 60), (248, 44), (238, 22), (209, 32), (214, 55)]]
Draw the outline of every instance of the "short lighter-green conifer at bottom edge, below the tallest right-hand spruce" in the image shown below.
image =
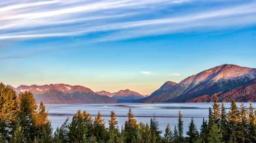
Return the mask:
[(220, 133), (220, 129), (218, 126), (213, 123), (212, 128), (209, 131), (207, 142), (208, 143), (222, 143), (222, 134)]

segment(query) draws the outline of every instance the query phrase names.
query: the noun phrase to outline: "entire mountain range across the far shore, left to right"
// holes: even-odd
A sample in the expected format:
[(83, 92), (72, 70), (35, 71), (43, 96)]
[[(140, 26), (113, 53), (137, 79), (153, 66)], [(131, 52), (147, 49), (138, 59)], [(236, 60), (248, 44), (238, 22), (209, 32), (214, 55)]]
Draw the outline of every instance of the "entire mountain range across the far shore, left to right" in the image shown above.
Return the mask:
[[(8, 85), (10, 86), (10, 85)], [(219, 101), (256, 101), (256, 69), (223, 64), (183, 79), (179, 83), (166, 81), (150, 96), (129, 89), (110, 93), (94, 92), (84, 86), (68, 84), (21, 85), (16, 93), (31, 91), (38, 102), (44, 103), (115, 103), (115, 102), (212, 102), (213, 94)]]

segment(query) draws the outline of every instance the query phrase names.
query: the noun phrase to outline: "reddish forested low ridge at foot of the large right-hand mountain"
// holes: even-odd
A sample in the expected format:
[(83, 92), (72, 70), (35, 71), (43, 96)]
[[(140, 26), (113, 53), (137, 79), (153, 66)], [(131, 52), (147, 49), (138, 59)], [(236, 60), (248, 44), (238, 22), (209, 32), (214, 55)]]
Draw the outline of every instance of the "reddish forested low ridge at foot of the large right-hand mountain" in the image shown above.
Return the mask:
[[(253, 79), (248, 84), (235, 87), (233, 89), (217, 93), (219, 102), (230, 102), (234, 99), (237, 102), (256, 102), (256, 79)], [(203, 95), (190, 99), (187, 102), (213, 102), (214, 94)]]

